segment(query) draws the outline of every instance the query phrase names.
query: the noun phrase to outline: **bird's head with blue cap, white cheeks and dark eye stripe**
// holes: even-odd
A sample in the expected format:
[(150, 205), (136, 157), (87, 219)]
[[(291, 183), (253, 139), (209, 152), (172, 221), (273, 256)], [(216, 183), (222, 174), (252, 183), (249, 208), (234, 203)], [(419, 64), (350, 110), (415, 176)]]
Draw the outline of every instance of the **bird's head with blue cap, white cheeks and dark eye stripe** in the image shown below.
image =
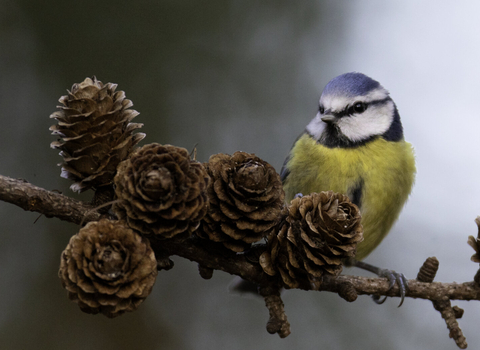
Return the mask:
[(377, 137), (403, 139), (395, 103), (379, 82), (361, 73), (332, 79), (306, 131), (327, 147), (355, 147)]

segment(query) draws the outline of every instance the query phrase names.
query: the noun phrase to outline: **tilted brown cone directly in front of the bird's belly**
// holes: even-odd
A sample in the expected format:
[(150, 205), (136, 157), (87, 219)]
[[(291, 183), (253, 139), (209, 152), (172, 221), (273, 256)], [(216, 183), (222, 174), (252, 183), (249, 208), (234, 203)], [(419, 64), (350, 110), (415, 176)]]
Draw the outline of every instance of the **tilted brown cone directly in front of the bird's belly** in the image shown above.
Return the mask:
[(279, 272), (289, 288), (318, 285), (324, 274), (339, 275), (342, 260), (355, 256), (363, 240), (360, 219), (358, 207), (339, 193), (295, 198), (260, 264), (269, 275)]

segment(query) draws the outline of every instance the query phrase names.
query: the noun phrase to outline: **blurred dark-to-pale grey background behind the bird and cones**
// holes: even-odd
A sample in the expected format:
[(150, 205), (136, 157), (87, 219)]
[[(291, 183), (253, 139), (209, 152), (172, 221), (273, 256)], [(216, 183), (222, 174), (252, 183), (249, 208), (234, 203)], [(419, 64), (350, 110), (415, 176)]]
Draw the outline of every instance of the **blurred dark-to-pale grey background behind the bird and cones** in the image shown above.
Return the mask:
[[(73, 83), (118, 83), (141, 114), (142, 142), (237, 150), (280, 170), (333, 77), (363, 72), (395, 100), (418, 175), (399, 221), (367, 262), (415, 278), (429, 256), (438, 281), (471, 281), (480, 215), (480, 3), (476, 1), (0, 0), (0, 174), (73, 195), (49, 115)], [(91, 194), (80, 198), (89, 200)], [(2, 349), (455, 349), (430, 302), (348, 304), (288, 291), (292, 334), (265, 330), (261, 300), (227, 292), (174, 258), (134, 313), (92, 316), (57, 277), (78, 227), (0, 202)], [(349, 269), (348, 274), (363, 274)], [(479, 302), (458, 302), (470, 348)]]

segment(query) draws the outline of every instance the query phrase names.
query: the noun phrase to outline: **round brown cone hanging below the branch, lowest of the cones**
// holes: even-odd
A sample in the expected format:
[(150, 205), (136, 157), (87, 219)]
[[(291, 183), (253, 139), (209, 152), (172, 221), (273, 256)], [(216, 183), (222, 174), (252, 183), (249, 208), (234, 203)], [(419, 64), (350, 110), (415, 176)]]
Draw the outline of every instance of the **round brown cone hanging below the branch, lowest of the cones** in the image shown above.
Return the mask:
[(146, 238), (123, 222), (102, 219), (72, 236), (58, 275), (82, 311), (116, 317), (136, 310), (150, 294), (157, 261)]

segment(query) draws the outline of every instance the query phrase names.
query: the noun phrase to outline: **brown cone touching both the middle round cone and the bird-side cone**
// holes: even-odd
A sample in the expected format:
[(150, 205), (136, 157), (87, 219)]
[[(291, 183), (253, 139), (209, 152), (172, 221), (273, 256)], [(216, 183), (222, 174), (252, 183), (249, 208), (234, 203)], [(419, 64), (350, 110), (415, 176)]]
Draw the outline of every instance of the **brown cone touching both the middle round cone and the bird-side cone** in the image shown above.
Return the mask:
[(235, 252), (267, 236), (278, 223), (285, 193), (275, 169), (254, 154), (216, 154), (205, 164), (210, 209), (197, 235)]

